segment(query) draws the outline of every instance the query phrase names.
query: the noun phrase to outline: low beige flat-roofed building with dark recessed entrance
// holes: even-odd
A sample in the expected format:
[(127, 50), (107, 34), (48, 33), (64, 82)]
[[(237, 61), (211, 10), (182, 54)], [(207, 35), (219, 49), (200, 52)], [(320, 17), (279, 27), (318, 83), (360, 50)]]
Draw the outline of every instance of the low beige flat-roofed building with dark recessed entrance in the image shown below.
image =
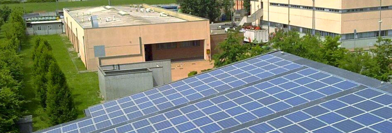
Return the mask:
[(87, 70), (211, 58), (208, 19), (147, 4), (64, 8), (64, 25)]

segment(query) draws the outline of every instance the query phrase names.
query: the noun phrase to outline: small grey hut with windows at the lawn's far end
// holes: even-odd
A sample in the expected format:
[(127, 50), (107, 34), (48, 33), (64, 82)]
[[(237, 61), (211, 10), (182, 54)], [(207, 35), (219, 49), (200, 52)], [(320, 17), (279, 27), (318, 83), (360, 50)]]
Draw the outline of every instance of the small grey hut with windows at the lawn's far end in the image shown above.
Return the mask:
[[(48, 29), (48, 25), (52, 26), (51, 30)], [(60, 27), (59, 27), (59, 25), (60, 25)], [(41, 26), (41, 30), (38, 30), (38, 26)], [(33, 35), (50, 35), (50, 34), (62, 34), (63, 33), (62, 23), (31, 24), (31, 28), (33, 28)]]

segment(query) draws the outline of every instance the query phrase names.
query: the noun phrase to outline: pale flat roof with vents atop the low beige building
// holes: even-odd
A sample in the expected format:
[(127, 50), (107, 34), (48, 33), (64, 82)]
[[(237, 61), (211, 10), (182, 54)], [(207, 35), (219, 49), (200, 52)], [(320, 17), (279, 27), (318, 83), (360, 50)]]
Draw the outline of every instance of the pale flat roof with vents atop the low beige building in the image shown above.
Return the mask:
[[(83, 28), (92, 28), (91, 21), (88, 21), (91, 16), (97, 16), (99, 27), (116, 27), (125, 25), (146, 25), (156, 23), (173, 23), (185, 22), (180, 18), (173, 16), (160, 16), (160, 12), (146, 12), (144, 9), (141, 12), (139, 7), (125, 7), (125, 6), (111, 6), (112, 9), (106, 9), (105, 6), (100, 7), (86, 7), (84, 9), (78, 8), (77, 10), (69, 11), (72, 16)], [(118, 12), (123, 11), (129, 15), (120, 15)], [(83, 16), (84, 14), (84, 16)], [(90, 15), (88, 15), (90, 14)], [(82, 21), (83, 18), (83, 21)], [(111, 21), (107, 22), (106, 19)], [(115, 21), (113, 20), (115, 18)]]

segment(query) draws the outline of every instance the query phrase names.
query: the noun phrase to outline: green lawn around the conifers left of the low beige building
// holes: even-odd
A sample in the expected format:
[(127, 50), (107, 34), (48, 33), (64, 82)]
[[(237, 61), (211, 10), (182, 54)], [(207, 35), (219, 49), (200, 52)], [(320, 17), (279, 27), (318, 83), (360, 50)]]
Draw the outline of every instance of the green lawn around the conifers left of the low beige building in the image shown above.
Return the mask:
[[(32, 88), (33, 75), (31, 66), (33, 60), (31, 59), (33, 53), (33, 43), (37, 37), (43, 37), (49, 41), (53, 48), (53, 55), (57, 60), (60, 68), (67, 78), (67, 83), (72, 89), (74, 102), (78, 110), (78, 117), (84, 117), (83, 110), (89, 106), (96, 105), (102, 100), (99, 97), (98, 74), (95, 72), (78, 73), (78, 69), (83, 68), (83, 63), (77, 58), (75, 52), (68, 52), (71, 48), (68, 39), (60, 35), (40, 35), (30, 36), (27, 44), (22, 46), (22, 56), (24, 58), (24, 96), (30, 103), (26, 104), (25, 108), (29, 114), (33, 115), (33, 130), (39, 130), (49, 127), (47, 124), (48, 116), (45, 114), (44, 109), (39, 105), (35, 98), (35, 90)], [(63, 42), (65, 41), (65, 43)]]

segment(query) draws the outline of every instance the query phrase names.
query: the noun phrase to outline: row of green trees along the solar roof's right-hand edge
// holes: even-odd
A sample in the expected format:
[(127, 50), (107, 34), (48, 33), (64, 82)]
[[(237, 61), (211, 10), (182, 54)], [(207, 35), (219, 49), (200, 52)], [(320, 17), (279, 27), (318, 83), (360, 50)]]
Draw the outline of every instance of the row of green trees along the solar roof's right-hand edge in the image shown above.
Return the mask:
[(392, 75), (391, 39), (379, 38), (374, 48), (369, 51), (356, 49), (354, 52), (340, 47), (340, 36), (325, 37), (307, 34), (303, 37), (298, 32), (279, 31), (270, 43), (276, 49), (298, 55), (310, 60), (328, 64), (388, 82)]

